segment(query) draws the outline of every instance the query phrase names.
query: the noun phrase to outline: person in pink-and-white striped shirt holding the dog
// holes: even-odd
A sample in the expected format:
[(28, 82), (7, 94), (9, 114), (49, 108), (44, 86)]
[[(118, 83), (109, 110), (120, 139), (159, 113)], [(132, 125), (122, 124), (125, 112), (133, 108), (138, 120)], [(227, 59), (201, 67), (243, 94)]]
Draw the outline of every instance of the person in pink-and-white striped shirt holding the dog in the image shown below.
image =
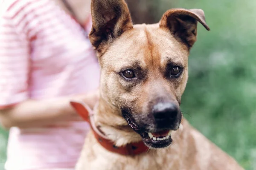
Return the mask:
[(99, 97), (99, 64), (86, 36), (91, 22), (81, 28), (52, 0), (4, 5), (0, 122), (10, 129), (5, 168), (73, 170), (89, 125), (70, 100), (92, 108)]

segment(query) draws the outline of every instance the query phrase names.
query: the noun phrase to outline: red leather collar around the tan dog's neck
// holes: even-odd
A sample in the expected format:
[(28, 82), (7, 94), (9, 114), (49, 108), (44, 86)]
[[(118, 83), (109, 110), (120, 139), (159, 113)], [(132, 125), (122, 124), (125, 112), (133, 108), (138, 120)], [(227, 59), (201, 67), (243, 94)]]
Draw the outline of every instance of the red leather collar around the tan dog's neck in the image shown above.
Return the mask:
[(93, 119), (93, 111), (84, 103), (84, 102), (74, 102), (71, 101), (70, 104), (73, 108), (76, 109), (77, 113), (90, 124), (91, 129), (93, 130), (94, 136), (97, 141), (104, 147), (106, 150), (121, 155), (136, 155), (144, 153), (148, 150), (148, 147), (141, 142), (130, 143), (122, 147), (116, 147), (114, 143), (108, 139), (96, 126)]

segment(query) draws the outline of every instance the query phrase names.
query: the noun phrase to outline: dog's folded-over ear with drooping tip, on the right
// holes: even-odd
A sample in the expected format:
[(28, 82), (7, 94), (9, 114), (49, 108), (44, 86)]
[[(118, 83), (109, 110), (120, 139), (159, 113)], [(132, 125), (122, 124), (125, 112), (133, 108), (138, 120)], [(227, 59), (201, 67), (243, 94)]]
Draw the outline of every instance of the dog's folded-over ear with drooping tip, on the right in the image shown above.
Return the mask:
[(201, 23), (208, 31), (210, 30), (203, 10), (174, 8), (163, 14), (160, 28), (168, 28), (176, 39), (190, 49), (196, 41), (197, 22)]

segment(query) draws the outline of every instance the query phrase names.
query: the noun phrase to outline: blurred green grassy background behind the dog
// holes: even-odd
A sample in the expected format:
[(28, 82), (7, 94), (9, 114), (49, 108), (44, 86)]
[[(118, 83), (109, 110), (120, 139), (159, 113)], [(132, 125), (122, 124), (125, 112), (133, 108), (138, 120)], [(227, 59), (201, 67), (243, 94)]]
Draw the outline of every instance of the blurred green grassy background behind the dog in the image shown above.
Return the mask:
[[(204, 10), (211, 31), (198, 24), (182, 111), (246, 170), (256, 170), (256, 0), (147, 2), (155, 9), (154, 20), (173, 7)], [(139, 8), (146, 6), (142, 3)], [(0, 129), (0, 169), (6, 159), (7, 135)]]

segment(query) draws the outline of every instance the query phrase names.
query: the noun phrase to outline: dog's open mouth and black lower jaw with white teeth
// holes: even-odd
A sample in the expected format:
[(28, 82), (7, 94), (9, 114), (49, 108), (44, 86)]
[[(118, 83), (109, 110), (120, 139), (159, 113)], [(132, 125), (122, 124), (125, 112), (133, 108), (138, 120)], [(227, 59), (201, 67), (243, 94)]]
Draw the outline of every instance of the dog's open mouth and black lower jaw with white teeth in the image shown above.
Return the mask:
[(154, 132), (142, 131), (138, 125), (136, 125), (131, 119), (125, 116), (125, 120), (128, 122), (128, 125), (140, 136), (142, 137), (143, 142), (146, 146), (152, 148), (163, 148), (168, 147), (172, 143), (172, 130), (165, 129)]

